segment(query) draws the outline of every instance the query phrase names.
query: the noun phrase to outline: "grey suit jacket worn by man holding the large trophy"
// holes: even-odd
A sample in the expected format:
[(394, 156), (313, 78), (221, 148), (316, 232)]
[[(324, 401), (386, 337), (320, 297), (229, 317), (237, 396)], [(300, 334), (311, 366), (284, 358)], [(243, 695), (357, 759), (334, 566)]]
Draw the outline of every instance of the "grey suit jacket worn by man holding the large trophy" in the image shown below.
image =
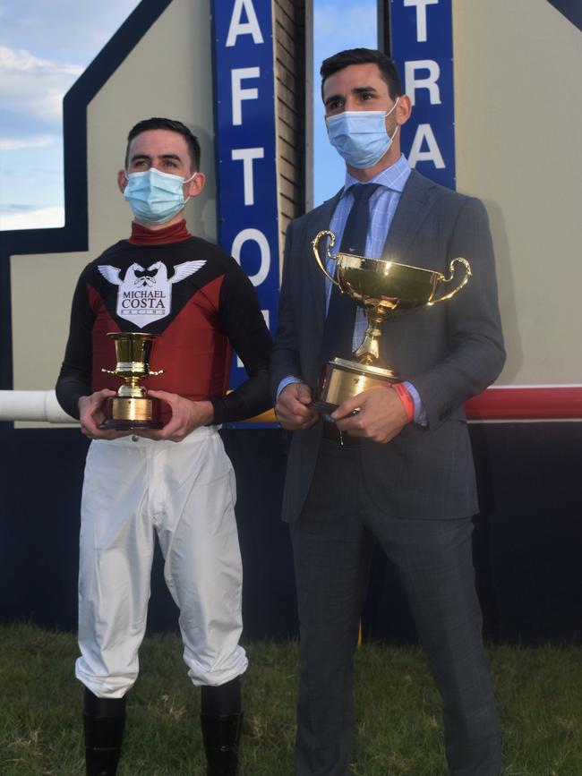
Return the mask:
[[(330, 226), (340, 192), (287, 229), (271, 386), (295, 375), (315, 394), (321, 373), (325, 277), (311, 241)], [(489, 223), (480, 200), (451, 192), (412, 171), (390, 226), (384, 255), (449, 275), (449, 261), (469, 260), (473, 277), (448, 302), (390, 321), (381, 358), (417, 389), (428, 425), (408, 424), (382, 445), (364, 440), (366, 485), (392, 516), (445, 518), (477, 511), (475, 469), (463, 403), (500, 373), (505, 360)], [(301, 513), (321, 443), (321, 422), (295, 431), (289, 451), (283, 518)], [(333, 483), (330, 482), (330, 488)]]

